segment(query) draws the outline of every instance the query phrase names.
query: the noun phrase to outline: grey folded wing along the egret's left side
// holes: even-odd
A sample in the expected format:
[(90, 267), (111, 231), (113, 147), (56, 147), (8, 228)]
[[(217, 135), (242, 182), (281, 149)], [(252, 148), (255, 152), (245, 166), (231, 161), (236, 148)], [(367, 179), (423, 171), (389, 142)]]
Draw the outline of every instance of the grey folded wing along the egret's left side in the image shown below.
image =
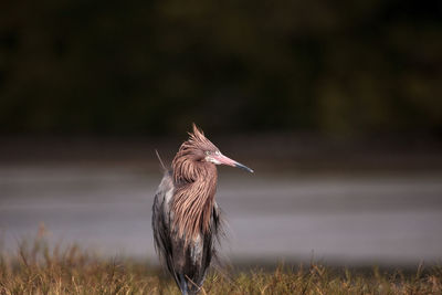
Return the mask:
[(155, 194), (152, 206), (152, 230), (155, 250), (157, 251), (162, 264), (166, 264), (168, 271), (173, 276), (177, 284), (179, 280), (173, 267), (172, 241), (171, 241), (171, 221), (169, 203), (173, 196), (175, 186), (171, 171), (166, 171), (161, 183)]

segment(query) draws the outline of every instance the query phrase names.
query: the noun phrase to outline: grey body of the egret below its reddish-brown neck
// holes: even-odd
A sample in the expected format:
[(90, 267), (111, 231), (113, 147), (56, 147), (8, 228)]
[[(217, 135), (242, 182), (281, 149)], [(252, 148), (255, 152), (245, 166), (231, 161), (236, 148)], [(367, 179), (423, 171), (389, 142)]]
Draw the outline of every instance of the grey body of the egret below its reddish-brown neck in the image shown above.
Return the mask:
[(158, 187), (152, 207), (155, 246), (182, 294), (196, 294), (215, 254), (214, 239), (220, 232), (220, 212), (214, 203), (210, 230), (206, 233), (201, 231), (190, 242), (186, 242), (185, 236), (179, 236), (173, 228), (175, 192), (172, 173), (167, 171)]

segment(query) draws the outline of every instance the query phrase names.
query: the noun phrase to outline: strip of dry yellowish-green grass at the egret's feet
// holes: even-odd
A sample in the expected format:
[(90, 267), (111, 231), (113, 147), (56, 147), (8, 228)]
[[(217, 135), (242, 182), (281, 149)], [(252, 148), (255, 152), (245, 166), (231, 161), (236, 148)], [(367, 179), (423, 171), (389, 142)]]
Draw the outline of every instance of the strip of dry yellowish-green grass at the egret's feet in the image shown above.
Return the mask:
[[(179, 294), (162, 271), (127, 259), (104, 260), (77, 246), (22, 242), (0, 256), (0, 294)], [(442, 267), (346, 270), (312, 263), (273, 271), (219, 270), (200, 294), (442, 294)]]

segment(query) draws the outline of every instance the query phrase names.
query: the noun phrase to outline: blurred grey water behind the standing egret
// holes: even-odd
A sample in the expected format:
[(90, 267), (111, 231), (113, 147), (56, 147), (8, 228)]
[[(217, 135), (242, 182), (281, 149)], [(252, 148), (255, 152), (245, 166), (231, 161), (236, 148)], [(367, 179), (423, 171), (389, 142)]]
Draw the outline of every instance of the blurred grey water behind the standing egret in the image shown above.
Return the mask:
[[(222, 168), (217, 199), (231, 261), (435, 263), (442, 177), (249, 175)], [(44, 222), (53, 242), (155, 257), (150, 207), (160, 175), (130, 167), (0, 168), (0, 229), (13, 250)], [(154, 261), (156, 261), (154, 259)]]

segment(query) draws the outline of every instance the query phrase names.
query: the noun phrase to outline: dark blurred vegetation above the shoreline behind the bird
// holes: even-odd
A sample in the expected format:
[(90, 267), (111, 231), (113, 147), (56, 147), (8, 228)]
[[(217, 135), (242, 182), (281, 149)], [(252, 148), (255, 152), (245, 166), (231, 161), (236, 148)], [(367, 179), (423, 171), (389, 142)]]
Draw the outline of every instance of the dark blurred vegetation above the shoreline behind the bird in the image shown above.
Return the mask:
[(440, 1), (7, 1), (0, 133), (442, 134)]

